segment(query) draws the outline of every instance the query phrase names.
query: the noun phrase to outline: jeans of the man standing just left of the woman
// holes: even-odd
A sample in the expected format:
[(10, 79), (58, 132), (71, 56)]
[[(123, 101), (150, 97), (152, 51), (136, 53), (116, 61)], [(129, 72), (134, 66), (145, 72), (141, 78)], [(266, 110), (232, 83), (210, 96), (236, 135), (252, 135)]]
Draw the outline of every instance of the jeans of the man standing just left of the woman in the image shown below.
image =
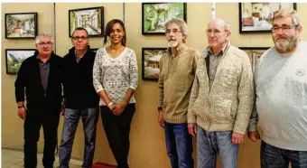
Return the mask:
[(83, 132), (85, 136), (82, 168), (90, 168), (93, 163), (95, 152), (96, 126), (99, 116), (98, 107), (85, 108), (81, 110), (66, 108), (64, 114), (64, 126), (61, 135), (59, 153), (60, 168), (70, 167), (70, 155), (80, 117), (82, 117)]

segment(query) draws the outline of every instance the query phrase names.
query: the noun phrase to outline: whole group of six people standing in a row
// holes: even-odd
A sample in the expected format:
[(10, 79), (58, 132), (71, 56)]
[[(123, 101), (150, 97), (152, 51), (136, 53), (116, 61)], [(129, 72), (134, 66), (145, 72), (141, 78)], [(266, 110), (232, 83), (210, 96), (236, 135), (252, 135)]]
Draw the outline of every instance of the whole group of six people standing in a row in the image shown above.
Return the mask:
[[(183, 20), (165, 24), (169, 48), (159, 64), (157, 116), (172, 168), (194, 167), (193, 136), (198, 168), (215, 168), (217, 154), (224, 168), (236, 168), (246, 132), (252, 141), (260, 139), (257, 123), (262, 168), (286, 168), (289, 163), (307, 167), (307, 43), (300, 40), (302, 25), (295, 11), (277, 11), (272, 24), (274, 47), (262, 55), (254, 74), (247, 53), (230, 44), (230, 25), (224, 20), (209, 22), (209, 46), (202, 52), (186, 45)], [(63, 58), (52, 52), (50, 34), (36, 37), (37, 51), (23, 61), (15, 81), (18, 116), (24, 119), (25, 168), (37, 165), (41, 126), (42, 163), (53, 167), (60, 113), (60, 168), (69, 167), (80, 117), (85, 136), (82, 168), (91, 167), (99, 107), (117, 167), (129, 167), (137, 61), (135, 51), (126, 47), (122, 21), (111, 20), (105, 30), (104, 43), (110, 45), (95, 53), (89, 50), (87, 30), (77, 28), (73, 47)]]

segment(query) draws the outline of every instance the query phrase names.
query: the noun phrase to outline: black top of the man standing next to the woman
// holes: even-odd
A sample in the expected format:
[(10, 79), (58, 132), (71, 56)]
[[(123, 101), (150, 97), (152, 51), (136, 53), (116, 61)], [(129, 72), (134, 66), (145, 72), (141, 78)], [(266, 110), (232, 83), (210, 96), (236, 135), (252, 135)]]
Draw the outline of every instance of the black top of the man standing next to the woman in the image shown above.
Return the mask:
[(62, 81), (65, 107), (82, 109), (98, 107), (99, 97), (93, 85), (93, 66), (96, 53), (89, 50), (79, 63), (76, 60), (75, 48), (72, 47), (63, 58)]

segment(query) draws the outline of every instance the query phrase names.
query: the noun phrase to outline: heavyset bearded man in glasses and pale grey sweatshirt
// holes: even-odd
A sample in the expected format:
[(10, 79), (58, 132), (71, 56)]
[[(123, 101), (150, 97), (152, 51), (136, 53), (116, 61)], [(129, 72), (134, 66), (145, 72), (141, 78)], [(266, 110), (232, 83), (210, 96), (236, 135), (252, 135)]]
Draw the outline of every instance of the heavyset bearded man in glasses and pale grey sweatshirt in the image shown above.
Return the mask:
[(256, 106), (248, 137), (256, 142), (262, 131), (261, 167), (307, 167), (307, 42), (295, 11), (274, 13), (274, 47), (256, 65)]

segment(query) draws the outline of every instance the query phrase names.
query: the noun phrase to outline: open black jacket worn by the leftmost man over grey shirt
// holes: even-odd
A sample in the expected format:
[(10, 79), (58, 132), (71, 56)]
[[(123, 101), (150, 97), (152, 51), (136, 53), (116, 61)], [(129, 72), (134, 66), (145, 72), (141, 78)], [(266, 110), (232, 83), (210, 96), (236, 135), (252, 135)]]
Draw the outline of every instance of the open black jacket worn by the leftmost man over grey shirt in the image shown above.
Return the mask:
[(46, 91), (42, 88), (41, 73), (38, 52), (25, 59), (18, 71), (15, 80), (15, 98), (16, 102), (24, 101), (24, 88), (26, 96), (26, 106), (32, 110), (51, 109), (60, 114), (61, 81), (60, 65), (62, 58), (51, 53), (50, 71)]

